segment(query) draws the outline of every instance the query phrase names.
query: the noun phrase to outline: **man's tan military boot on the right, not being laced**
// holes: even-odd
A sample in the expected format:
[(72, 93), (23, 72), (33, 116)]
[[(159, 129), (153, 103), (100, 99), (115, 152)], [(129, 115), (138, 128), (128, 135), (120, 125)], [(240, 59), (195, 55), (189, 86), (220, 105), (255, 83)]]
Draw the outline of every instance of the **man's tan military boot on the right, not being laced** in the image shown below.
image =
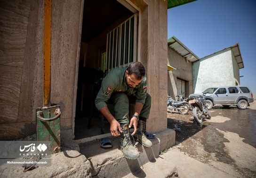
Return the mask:
[(136, 141), (139, 141), (143, 146), (152, 147), (152, 142), (148, 140), (144, 134), (146, 131), (146, 124), (145, 120), (138, 120), (137, 132), (134, 136), (136, 137)]

